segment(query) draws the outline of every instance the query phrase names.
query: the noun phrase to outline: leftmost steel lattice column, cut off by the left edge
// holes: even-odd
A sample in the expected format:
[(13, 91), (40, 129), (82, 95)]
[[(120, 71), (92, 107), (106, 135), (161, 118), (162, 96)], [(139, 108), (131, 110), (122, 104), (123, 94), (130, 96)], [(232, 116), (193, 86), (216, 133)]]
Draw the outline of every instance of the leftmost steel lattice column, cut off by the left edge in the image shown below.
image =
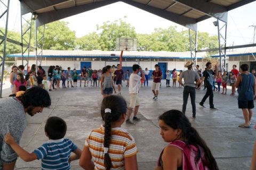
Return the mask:
[[(0, 41), (0, 46), (4, 45), (4, 51), (3, 51), (3, 56), (0, 55), (0, 68), (1, 68), (1, 79), (0, 79), (0, 98), (2, 98), (2, 90), (3, 90), (3, 82), (4, 82), (4, 62), (5, 62), (5, 57), (6, 57), (6, 39), (7, 39), (7, 30), (8, 30), (8, 20), (9, 20), (9, 8), (10, 8), (10, 0), (7, 2), (3, 2), (0, 0), (0, 6), (3, 7), (5, 10), (4, 12), (0, 15), (0, 20), (5, 21), (5, 30), (2, 31), (0, 30), (1, 36), (4, 37)], [(6, 19), (4, 17), (6, 16)]]

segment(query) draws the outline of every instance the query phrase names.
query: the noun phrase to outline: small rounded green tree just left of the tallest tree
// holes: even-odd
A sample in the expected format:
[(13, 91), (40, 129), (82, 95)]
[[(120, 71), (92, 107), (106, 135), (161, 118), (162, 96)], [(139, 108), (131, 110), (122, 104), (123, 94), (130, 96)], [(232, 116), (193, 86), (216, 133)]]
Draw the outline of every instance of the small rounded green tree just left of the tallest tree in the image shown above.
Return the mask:
[(86, 36), (76, 39), (76, 48), (82, 50), (101, 49), (100, 37), (96, 32), (89, 33)]

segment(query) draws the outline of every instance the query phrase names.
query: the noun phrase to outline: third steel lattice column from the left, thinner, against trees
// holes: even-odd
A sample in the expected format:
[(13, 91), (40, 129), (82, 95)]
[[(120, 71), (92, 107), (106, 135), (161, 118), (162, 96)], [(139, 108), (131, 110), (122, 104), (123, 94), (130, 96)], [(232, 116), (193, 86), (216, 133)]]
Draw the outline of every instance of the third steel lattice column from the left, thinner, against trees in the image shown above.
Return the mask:
[[(41, 66), (42, 60), (43, 60), (45, 25), (43, 27), (44, 27), (43, 32), (40, 32), (40, 30), (36, 27), (36, 22), (35, 22), (36, 68), (38, 66), (38, 56), (40, 57), (39, 58), (39, 65), (40, 66)], [(40, 36), (39, 39), (37, 38), (38, 35)], [(38, 53), (38, 49), (40, 49), (39, 53)], [(37, 71), (37, 69), (36, 69), (36, 71)]]

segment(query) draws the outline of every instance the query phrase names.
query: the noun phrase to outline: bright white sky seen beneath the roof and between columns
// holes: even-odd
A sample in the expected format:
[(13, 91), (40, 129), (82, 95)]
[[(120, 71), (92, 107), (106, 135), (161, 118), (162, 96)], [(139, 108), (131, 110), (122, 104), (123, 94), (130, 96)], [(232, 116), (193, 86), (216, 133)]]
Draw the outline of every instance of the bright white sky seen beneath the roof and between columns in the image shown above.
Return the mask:
[[(253, 28), (249, 28), (249, 25), (256, 24), (255, 9), (256, 2), (253, 2), (229, 11), (227, 32), (228, 45), (232, 45), (233, 42), (234, 45), (252, 43)], [(0, 8), (0, 11), (3, 11), (3, 7)], [(131, 23), (135, 27), (137, 33), (151, 33), (155, 28), (168, 28), (171, 25), (177, 26), (179, 31), (187, 29), (174, 22), (122, 2), (74, 15), (63, 19), (62, 21), (69, 22), (69, 28), (76, 31), (77, 37), (82, 37), (89, 32), (96, 31), (97, 24), (102, 24), (104, 21), (115, 21), (124, 16), (127, 16), (125, 21)], [(216, 19), (211, 18), (199, 22), (198, 30), (209, 32), (211, 35), (217, 35), (217, 27), (214, 27), (212, 24), (215, 20)], [(3, 25), (4, 22), (0, 22), (0, 26), (3, 27)], [(20, 30), (20, 10), (18, 0), (11, 1), (9, 29)]]

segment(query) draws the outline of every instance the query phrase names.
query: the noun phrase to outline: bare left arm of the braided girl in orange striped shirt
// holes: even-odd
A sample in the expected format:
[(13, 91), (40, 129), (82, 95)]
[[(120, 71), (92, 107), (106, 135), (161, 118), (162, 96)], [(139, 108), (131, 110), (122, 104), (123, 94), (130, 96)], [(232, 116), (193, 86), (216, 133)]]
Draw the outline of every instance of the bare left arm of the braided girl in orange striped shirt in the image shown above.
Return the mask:
[(92, 155), (88, 147), (84, 147), (81, 158), (79, 160), (79, 165), (86, 170), (93, 170), (94, 163), (92, 162)]

